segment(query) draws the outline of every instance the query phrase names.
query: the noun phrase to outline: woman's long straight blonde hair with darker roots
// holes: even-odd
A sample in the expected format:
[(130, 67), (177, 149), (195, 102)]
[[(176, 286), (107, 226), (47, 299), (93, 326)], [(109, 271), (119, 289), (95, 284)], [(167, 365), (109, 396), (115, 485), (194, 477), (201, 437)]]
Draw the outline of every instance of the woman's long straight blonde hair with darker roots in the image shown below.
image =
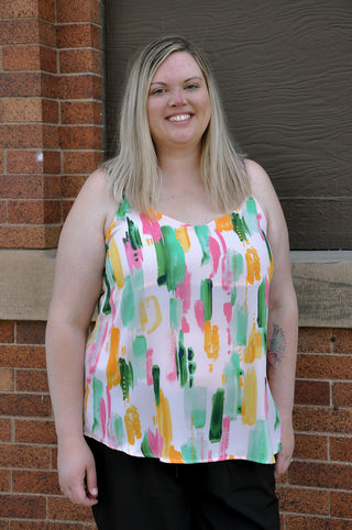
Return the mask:
[(250, 195), (243, 157), (230, 139), (209, 64), (189, 41), (179, 36), (152, 41), (132, 66), (122, 100), (118, 155), (103, 164), (109, 185), (118, 201), (124, 194), (141, 212), (155, 208), (162, 176), (148, 128), (147, 97), (156, 69), (176, 52), (191, 55), (205, 77), (211, 118), (202, 136), (202, 179), (213, 207), (218, 211), (232, 211)]

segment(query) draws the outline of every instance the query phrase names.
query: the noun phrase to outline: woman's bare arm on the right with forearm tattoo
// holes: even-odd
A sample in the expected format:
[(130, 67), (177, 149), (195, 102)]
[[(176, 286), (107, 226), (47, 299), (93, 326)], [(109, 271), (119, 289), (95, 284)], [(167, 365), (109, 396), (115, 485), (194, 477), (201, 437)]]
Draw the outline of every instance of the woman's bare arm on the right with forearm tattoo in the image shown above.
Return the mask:
[(267, 239), (274, 262), (267, 324), (267, 379), (282, 419), (282, 451), (276, 454), (275, 464), (278, 477), (288, 468), (294, 452), (297, 299), (290, 274), (288, 232), (279, 201), (264, 169), (251, 161), (246, 168), (253, 192), (267, 217)]

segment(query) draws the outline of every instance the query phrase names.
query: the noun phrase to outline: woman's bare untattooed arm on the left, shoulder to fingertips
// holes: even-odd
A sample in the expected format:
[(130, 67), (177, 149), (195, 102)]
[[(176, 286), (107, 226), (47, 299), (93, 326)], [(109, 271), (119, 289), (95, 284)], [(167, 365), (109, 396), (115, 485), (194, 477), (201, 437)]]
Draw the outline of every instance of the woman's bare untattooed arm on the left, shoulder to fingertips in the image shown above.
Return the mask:
[(106, 177), (96, 172), (62, 231), (46, 328), (59, 484), (70, 500), (86, 506), (97, 503), (97, 478), (82, 431), (84, 362), (87, 330), (101, 292), (108, 205)]

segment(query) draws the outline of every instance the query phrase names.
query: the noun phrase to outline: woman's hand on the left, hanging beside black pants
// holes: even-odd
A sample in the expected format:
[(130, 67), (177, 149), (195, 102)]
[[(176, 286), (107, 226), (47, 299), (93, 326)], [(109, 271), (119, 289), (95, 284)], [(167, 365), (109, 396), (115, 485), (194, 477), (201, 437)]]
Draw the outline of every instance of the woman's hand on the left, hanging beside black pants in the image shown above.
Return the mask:
[(57, 468), (62, 492), (73, 503), (84, 506), (98, 503), (96, 463), (84, 438), (58, 443)]

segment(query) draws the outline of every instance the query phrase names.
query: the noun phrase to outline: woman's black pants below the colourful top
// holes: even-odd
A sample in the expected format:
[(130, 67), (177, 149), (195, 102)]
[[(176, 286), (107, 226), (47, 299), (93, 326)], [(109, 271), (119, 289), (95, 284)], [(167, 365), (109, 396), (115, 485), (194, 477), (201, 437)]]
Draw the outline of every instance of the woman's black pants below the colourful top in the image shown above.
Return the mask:
[(96, 459), (99, 530), (277, 530), (271, 464), (165, 464), (87, 439)]

